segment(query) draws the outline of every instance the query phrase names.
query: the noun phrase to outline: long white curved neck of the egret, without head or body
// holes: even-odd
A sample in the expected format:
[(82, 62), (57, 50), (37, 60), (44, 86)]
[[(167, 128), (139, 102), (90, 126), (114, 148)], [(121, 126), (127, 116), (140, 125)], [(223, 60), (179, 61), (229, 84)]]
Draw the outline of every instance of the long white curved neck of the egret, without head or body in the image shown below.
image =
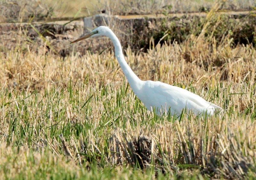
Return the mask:
[[(112, 40), (112, 42), (115, 46), (116, 59), (117, 59), (118, 63), (120, 64), (120, 66), (124, 72), (124, 75), (126, 76), (130, 86), (132, 87), (132, 90), (135, 92), (136, 89), (140, 88), (138, 82), (140, 82), (141, 80), (139, 79), (138, 76), (136, 76), (136, 74), (132, 71), (130, 66), (125, 61), (124, 54), (122, 51), (122, 46), (120, 44), (120, 41), (114, 34), (114, 32), (111, 32), (111, 35), (109, 36), (109, 38)], [(136, 92), (135, 92), (135, 94), (136, 94)]]

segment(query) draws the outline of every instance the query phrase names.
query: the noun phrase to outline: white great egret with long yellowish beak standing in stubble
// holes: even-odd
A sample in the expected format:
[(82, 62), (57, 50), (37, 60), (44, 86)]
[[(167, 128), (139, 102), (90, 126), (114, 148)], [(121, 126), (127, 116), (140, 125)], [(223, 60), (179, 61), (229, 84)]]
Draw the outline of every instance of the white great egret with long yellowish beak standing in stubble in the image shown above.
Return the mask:
[(96, 36), (107, 36), (112, 40), (115, 46), (116, 58), (123, 69), (124, 75), (134, 93), (149, 111), (154, 109), (158, 114), (162, 114), (171, 110), (172, 116), (179, 116), (184, 109), (193, 111), (198, 115), (212, 115), (217, 109), (222, 110), (219, 106), (180, 87), (172, 86), (160, 81), (140, 80), (125, 61), (120, 41), (114, 32), (107, 26), (99, 26), (91, 33), (74, 40), (71, 43)]

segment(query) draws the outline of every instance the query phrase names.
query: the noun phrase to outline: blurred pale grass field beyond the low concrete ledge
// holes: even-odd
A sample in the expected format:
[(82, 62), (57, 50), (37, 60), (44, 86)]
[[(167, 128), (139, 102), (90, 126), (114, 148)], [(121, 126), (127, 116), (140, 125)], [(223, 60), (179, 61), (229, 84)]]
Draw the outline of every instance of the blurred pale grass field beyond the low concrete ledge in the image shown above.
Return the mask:
[[(214, 0), (1, 0), (0, 22), (49, 21), (52, 18), (78, 18), (99, 14), (168, 14), (176, 12), (208, 12)], [(254, 0), (222, 2), (220, 11), (252, 10)]]

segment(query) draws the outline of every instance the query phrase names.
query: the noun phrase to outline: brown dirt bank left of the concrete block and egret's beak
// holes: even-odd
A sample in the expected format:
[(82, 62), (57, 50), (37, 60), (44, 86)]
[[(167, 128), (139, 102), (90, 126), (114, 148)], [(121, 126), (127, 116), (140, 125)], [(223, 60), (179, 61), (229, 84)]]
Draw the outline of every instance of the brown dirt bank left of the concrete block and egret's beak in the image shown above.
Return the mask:
[(9, 50), (35, 51), (48, 53), (53, 51), (66, 56), (72, 51), (71, 40), (83, 34), (83, 21), (59, 21), (49, 24), (6, 23), (1, 24), (1, 51)]

